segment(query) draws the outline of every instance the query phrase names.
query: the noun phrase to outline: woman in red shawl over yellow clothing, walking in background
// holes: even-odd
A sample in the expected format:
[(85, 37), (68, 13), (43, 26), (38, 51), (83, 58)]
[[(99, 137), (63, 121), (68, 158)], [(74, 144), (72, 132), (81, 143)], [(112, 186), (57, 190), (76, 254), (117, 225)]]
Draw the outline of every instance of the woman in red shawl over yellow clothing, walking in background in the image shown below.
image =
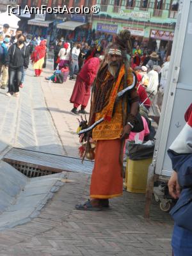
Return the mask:
[(35, 76), (40, 76), (42, 73), (42, 67), (44, 65), (46, 54), (46, 42), (43, 40), (40, 42), (40, 45), (35, 47), (35, 51), (31, 54), (31, 60), (33, 63), (33, 68), (35, 69)]

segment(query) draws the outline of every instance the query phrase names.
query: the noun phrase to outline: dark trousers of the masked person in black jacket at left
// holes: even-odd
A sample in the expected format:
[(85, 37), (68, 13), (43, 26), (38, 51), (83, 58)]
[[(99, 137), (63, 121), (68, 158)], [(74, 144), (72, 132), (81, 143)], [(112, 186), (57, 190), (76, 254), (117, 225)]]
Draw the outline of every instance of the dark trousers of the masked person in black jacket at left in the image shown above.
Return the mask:
[(8, 92), (10, 93), (19, 92), (21, 77), (22, 77), (22, 67), (14, 68), (14, 69), (9, 68)]

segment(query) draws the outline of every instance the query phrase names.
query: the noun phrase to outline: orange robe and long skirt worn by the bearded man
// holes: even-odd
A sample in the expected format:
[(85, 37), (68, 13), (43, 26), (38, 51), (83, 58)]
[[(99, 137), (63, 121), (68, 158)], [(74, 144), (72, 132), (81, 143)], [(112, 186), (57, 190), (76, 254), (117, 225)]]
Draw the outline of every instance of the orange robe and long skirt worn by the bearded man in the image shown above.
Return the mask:
[[(104, 86), (109, 76), (111, 74), (107, 72), (102, 86)], [(115, 114), (112, 116), (116, 94), (123, 90), (124, 79), (122, 77), (124, 77), (124, 65), (120, 68), (118, 79), (113, 84), (108, 105), (95, 115), (95, 122), (102, 117), (105, 117), (105, 121), (97, 125), (92, 132), (93, 140), (97, 143), (90, 186), (91, 198), (108, 199), (120, 196), (123, 193), (122, 166), (119, 161), (120, 134), (123, 131), (122, 100), (118, 102)], [(132, 81), (132, 69), (129, 68), (127, 86), (130, 86)], [(136, 89), (132, 89), (131, 97), (132, 95), (133, 97), (138, 96)]]

